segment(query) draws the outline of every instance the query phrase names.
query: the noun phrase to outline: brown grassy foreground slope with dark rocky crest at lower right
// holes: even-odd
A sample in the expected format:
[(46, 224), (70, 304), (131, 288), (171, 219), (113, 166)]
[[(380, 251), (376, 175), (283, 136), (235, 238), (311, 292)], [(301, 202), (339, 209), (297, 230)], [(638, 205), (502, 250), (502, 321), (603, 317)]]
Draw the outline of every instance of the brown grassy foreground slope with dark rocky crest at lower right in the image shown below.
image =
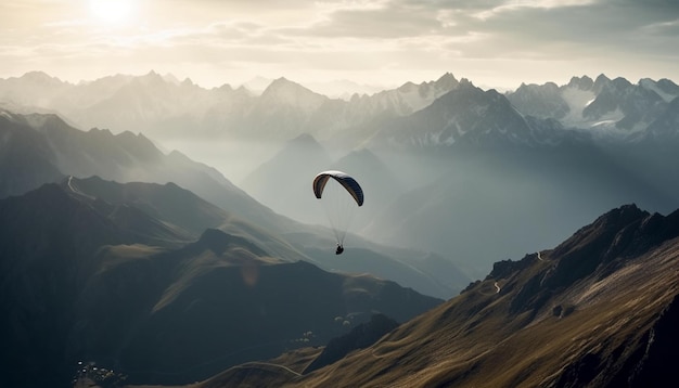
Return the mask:
[[(679, 212), (624, 206), (554, 249), (497, 262), (484, 281), (369, 348), (276, 378), (290, 387), (663, 386), (679, 345), (678, 263)], [(320, 357), (298, 355), (304, 365), (292, 355), (277, 362), (302, 374)]]

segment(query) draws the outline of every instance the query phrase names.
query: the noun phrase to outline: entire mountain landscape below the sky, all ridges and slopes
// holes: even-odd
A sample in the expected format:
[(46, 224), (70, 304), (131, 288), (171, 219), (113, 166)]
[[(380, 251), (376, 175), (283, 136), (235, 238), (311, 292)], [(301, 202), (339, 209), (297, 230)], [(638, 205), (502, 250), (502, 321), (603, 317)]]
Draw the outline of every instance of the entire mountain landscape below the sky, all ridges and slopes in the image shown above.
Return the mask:
[[(657, 386), (678, 95), (0, 79), (0, 385)], [(325, 169), (366, 193), (342, 256)]]

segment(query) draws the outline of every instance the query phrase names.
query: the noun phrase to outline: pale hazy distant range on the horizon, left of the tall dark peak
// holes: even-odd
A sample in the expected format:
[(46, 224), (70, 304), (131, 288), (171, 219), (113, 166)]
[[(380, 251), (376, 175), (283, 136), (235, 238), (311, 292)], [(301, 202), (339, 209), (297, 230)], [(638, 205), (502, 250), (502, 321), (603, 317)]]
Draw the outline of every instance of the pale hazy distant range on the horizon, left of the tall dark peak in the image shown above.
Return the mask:
[(158, 140), (215, 135), (289, 140), (302, 133), (332, 133), (383, 114), (410, 114), (457, 82), (448, 74), (434, 82), (406, 83), (344, 101), (285, 78), (273, 80), (257, 95), (228, 85), (207, 90), (189, 79), (178, 82), (155, 72), (78, 85), (31, 72), (0, 79), (0, 106), (18, 113), (59, 112), (78, 128), (143, 132)]

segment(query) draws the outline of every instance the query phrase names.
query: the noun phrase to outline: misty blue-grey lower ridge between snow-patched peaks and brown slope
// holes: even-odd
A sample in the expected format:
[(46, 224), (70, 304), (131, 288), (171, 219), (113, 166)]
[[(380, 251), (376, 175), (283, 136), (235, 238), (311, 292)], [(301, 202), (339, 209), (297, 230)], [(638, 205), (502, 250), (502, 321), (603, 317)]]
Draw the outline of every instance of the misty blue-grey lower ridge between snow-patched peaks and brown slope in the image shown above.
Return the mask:
[[(459, 150), (428, 163), (441, 172), (362, 230), (384, 244), (447, 253), (474, 276), (503, 257), (549, 247), (625, 203), (672, 198), (587, 144), (546, 150)], [(408, 211), (403, 211), (408, 209)]]

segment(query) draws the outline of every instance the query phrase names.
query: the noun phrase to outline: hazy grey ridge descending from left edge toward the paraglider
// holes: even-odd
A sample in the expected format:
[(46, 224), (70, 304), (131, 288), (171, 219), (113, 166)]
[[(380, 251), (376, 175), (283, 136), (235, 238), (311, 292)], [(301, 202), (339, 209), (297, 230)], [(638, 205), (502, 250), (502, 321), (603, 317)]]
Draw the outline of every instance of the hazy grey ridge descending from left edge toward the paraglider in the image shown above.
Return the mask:
[[(22, 194), (63, 176), (99, 176), (117, 182), (174, 182), (247, 221), (279, 230), (291, 223), (258, 204), (216, 169), (179, 152), (165, 155), (142, 134), (113, 134), (99, 129), (85, 132), (55, 115), (18, 115), (8, 111), (3, 111), (0, 131), (11, 131), (4, 137), (7, 150), (24, 150), (31, 155), (30, 163), (16, 159), (13, 163), (16, 167), (1, 170), (0, 192)], [(40, 160), (43, 160), (40, 168), (25, 170)], [(26, 183), (12, 183), (22, 171), (26, 172), (21, 176)]]

